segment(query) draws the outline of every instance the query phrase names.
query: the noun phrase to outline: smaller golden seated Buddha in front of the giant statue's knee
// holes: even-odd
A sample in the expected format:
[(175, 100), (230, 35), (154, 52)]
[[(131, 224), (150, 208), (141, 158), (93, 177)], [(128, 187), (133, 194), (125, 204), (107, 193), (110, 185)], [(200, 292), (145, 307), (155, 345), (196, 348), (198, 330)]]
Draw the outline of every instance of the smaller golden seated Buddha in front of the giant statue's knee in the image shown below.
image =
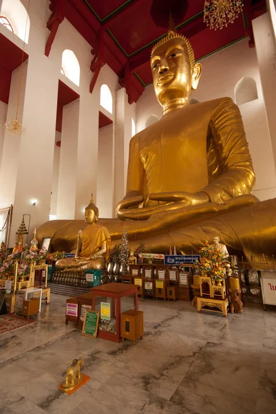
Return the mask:
[(85, 270), (102, 270), (105, 259), (109, 255), (110, 236), (107, 228), (96, 224), (98, 208), (91, 197), (85, 208), (85, 221), (88, 226), (78, 232), (78, 242), (75, 257), (60, 259), (56, 262), (56, 270), (70, 272), (85, 272)]

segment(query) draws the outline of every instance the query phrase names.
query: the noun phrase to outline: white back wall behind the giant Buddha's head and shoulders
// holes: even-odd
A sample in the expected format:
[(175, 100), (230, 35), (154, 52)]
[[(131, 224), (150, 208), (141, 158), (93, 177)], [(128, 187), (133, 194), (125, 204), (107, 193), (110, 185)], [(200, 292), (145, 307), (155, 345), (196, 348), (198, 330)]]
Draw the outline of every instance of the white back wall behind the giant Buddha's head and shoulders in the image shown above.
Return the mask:
[[(191, 95), (198, 101), (219, 97), (231, 97), (235, 101), (235, 85), (240, 79), (251, 77), (256, 81), (258, 99), (240, 106), (256, 175), (253, 193), (261, 200), (276, 197), (275, 163), (255, 48), (248, 48), (248, 39), (243, 39), (202, 59), (201, 63), (203, 70), (200, 83)], [(136, 104), (138, 131), (145, 128), (152, 115), (160, 119), (162, 108), (156, 100), (153, 85), (150, 85)]]

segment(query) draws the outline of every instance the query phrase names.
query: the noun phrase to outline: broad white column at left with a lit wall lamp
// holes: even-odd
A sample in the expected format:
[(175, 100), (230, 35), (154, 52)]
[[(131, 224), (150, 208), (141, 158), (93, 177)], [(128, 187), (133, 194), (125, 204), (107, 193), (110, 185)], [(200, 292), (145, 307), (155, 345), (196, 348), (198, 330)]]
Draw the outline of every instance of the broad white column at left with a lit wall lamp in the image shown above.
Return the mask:
[[(23, 126), (9, 245), (22, 214), (31, 215), (30, 233), (49, 219), (55, 145), (59, 61), (34, 48), (28, 59)], [(36, 199), (36, 205), (32, 200)], [(29, 240), (30, 240), (29, 235)]]

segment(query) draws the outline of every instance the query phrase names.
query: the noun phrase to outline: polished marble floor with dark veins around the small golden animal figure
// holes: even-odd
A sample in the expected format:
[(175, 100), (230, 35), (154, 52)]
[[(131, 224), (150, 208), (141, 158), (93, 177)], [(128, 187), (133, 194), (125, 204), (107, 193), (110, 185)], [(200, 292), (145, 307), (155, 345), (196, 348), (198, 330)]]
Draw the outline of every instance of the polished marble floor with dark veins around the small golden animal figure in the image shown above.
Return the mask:
[[(51, 295), (36, 323), (0, 336), (1, 414), (275, 414), (276, 308), (198, 313), (189, 302), (140, 300), (145, 337), (114, 344), (65, 325)], [(91, 380), (59, 391), (85, 358)]]

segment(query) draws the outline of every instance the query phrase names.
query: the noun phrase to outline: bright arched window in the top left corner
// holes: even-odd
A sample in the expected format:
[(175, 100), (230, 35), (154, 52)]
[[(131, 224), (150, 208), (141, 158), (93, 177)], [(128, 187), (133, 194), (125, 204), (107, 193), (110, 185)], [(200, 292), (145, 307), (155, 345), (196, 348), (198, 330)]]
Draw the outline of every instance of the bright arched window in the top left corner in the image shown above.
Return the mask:
[[(29, 32), (30, 32), (30, 19), (27, 13), (27, 10), (23, 6), (20, 0), (3, 0), (1, 7), (1, 16), (8, 21), (3, 23), (0, 21), (6, 28), (17, 34), (17, 36), (28, 43)], [(2, 17), (2, 19), (3, 19)]]

